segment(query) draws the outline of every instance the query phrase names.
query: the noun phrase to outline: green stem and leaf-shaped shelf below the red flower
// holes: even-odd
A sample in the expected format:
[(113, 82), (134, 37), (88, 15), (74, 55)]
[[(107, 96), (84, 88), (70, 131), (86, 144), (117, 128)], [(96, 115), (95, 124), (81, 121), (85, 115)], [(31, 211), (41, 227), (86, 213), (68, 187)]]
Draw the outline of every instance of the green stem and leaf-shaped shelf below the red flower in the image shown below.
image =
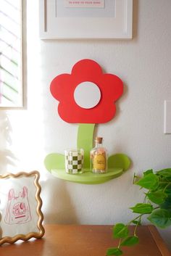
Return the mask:
[(64, 169), (64, 154), (51, 153), (44, 160), (46, 169), (57, 178), (83, 184), (104, 183), (121, 176), (130, 167), (130, 158), (125, 154), (113, 154), (108, 159), (108, 171), (103, 174), (95, 174), (90, 170), (90, 151), (93, 147), (94, 124), (80, 124), (78, 128), (78, 148), (84, 149), (83, 173), (68, 174)]

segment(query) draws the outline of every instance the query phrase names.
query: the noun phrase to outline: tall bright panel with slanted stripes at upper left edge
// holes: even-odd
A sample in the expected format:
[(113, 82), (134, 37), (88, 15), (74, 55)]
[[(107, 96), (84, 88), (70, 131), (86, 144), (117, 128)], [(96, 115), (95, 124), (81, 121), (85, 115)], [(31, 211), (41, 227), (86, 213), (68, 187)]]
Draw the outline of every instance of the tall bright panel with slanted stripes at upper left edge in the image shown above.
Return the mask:
[(22, 0), (1, 0), (0, 107), (22, 107)]

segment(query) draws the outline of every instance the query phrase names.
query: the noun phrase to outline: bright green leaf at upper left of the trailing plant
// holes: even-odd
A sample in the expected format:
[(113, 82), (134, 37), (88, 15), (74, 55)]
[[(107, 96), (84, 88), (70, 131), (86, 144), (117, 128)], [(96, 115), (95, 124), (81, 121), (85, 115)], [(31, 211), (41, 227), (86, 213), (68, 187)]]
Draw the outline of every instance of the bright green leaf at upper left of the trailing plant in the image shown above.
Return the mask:
[(141, 178), (135, 184), (145, 188), (145, 189), (154, 189), (157, 186), (159, 178), (154, 173), (149, 173), (143, 178)]

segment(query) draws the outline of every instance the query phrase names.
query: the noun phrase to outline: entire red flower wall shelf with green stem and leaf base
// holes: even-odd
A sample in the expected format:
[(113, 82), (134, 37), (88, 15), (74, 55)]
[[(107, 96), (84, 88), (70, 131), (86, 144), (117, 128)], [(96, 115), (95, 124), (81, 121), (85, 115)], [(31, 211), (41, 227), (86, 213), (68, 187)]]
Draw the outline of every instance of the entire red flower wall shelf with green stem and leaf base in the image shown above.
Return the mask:
[(114, 117), (115, 102), (123, 93), (122, 80), (117, 75), (103, 73), (97, 62), (82, 59), (72, 67), (70, 74), (57, 75), (51, 81), (50, 90), (59, 102), (59, 116), (67, 123), (79, 123), (77, 148), (84, 149), (84, 172), (74, 177), (65, 173), (64, 154), (59, 153), (46, 156), (46, 169), (58, 178), (85, 184), (109, 181), (128, 170), (130, 159), (122, 153), (109, 156), (108, 173), (96, 175), (90, 168), (95, 125), (107, 123)]

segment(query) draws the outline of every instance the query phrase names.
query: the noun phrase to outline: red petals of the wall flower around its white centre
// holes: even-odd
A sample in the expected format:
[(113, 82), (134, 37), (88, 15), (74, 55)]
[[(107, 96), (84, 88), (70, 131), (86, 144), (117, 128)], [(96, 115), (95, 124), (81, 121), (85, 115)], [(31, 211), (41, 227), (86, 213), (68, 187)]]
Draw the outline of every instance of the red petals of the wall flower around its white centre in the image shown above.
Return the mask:
[[(87, 86), (94, 85), (100, 91), (96, 105), (87, 108), (75, 101), (75, 91), (86, 82)], [(114, 102), (122, 96), (123, 83), (117, 75), (103, 73), (92, 59), (82, 59), (72, 67), (71, 74), (57, 75), (51, 81), (50, 90), (59, 101), (59, 116), (67, 123), (107, 123), (115, 115)], [(88, 101), (88, 95), (85, 96)]]

